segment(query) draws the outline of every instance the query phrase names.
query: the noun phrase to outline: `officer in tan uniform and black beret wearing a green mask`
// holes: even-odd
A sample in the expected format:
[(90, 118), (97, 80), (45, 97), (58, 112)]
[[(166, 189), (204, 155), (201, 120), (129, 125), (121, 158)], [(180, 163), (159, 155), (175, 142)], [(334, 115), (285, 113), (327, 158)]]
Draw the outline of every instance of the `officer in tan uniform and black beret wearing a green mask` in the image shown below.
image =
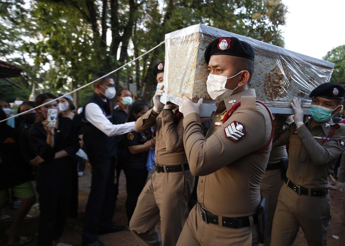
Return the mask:
[(291, 103), (295, 115), (282, 134), (285, 122), (275, 120), (273, 148), (289, 145), (287, 179), (279, 192), (272, 226), (272, 246), (292, 245), (302, 227), (308, 245), (326, 245), (331, 198), (328, 194), (328, 173), (334, 159), (345, 149), (345, 125), (334, 124), (331, 116), (342, 106), (345, 90), (337, 83), (324, 83), (311, 94), (311, 119), (303, 123), (301, 102)]

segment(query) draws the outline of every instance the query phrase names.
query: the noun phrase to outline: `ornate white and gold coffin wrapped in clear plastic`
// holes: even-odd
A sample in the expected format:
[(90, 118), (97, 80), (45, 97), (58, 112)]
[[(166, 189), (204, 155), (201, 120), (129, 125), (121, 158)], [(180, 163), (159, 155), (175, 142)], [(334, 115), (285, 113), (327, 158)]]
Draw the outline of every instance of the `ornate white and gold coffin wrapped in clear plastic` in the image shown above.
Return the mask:
[(207, 93), (204, 52), (207, 45), (219, 37), (237, 37), (253, 46), (255, 67), (250, 86), (256, 89), (257, 98), (272, 112), (287, 113), (294, 97), (300, 98), (303, 108), (308, 109), (311, 104), (309, 93), (331, 79), (333, 63), (198, 24), (165, 35), (167, 101), (178, 104), (179, 97), (187, 96), (194, 102), (202, 97), (204, 104), (216, 103)]

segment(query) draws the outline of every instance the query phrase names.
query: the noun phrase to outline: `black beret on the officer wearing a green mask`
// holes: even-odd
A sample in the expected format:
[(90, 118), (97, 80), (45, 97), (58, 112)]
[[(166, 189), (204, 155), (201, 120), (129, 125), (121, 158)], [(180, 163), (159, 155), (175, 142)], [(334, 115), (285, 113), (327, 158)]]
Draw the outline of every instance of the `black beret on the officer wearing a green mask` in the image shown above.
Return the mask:
[(324, 83), (313, 89), (310, 97), (321, 96), (330, 99), (342, 99), (345, 95), (345, 89), (338, 83)]

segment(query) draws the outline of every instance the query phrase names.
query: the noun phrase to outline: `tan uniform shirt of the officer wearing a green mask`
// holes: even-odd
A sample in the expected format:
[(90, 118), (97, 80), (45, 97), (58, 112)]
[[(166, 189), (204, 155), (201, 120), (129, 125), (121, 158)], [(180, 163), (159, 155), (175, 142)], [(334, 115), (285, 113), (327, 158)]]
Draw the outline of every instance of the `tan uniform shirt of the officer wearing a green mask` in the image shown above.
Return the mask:
[(308, 189), (328, 188), (329, 169), (345, 149), (345, 124), (339, 124), (333, 137), (322, 144), (322, 139), (315, 139), (314, 136), (326, 137), (336, 124), (332, 119), (310, 129), (308, 122), (296, 129), (292, 123), (282, 134), (278, 132), (285, 122), (285, 117), (279, 115), (275, 120), (273, 145), (289, 145), (289, 168), (286, 176), (289, 180), (299, 186)]

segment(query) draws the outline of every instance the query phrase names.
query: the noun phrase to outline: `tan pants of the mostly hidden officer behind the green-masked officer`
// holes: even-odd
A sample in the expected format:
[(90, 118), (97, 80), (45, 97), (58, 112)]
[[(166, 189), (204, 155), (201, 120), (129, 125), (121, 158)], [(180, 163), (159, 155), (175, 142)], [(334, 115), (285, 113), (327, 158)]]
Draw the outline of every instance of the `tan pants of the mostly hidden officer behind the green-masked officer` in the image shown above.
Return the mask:
[(284, 179), (282, 178), (282, 171), (269, 170), (265, 171), (264, 177), (260, 184), (261, 197), (266, 199), (267, 205), (267, 227), (265, 229), (265, 246), (271, 243), (271, 231), (274, 212), (276, 211), (279, 191), (282, 188)]

